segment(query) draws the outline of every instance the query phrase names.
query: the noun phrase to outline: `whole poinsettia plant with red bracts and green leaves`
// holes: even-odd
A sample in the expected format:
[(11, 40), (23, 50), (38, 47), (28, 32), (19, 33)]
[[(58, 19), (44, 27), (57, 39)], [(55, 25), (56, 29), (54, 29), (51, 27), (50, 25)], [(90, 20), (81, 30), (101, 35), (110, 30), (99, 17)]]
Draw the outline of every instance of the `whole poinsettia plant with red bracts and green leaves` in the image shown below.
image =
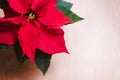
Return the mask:
[(71, 11), (72, 3), (63, 0), (0, 0), (0, 50), (12, 47), (18, 62), (30, 59), (43, 72), (53, 54), (69, 53), (63, 25), (83, 18)]

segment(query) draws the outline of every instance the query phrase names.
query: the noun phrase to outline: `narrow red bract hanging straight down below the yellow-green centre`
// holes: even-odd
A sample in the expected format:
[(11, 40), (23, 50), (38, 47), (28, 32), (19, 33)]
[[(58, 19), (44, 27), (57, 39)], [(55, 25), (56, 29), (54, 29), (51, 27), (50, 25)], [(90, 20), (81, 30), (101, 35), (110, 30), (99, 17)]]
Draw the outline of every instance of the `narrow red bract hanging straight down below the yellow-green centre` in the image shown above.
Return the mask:
[(38, 40), (37, 28), (31, 23), (26, 23), (20, 28), (18, 32), (18, 39), (23, 53), (26, 54), (33, 62)]

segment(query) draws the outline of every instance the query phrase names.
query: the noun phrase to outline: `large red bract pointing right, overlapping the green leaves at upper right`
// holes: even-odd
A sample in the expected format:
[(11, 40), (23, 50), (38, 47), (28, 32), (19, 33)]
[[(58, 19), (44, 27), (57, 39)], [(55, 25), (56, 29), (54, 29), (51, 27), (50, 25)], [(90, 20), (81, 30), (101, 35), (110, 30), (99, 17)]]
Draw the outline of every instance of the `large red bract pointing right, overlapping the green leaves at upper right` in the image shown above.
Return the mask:
[[(39, 17), (39, 21), (44, 25), (51, 25), (54, 28), (58, 28), (72, 21), (56, 8), (56, 0), (50, 0), (44, 6), (47, 6), (47, 11), (44, 13), (44, 16)], [(39, 12), (39, 14), (41, 13)]]

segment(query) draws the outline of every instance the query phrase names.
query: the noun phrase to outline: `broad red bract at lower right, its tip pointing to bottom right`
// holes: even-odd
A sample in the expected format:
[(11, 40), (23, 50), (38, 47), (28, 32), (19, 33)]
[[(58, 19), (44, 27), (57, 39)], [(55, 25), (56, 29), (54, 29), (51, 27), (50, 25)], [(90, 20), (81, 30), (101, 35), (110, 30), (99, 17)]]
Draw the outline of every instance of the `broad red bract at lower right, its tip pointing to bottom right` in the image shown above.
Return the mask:
[[(37, 22), (36, 25), (39, 27)], [(37, 47), (48, 54), (68, 53), (64, 41), (64, 32), (61, 28), (48, 29), (45, 25), (41, 25)]]

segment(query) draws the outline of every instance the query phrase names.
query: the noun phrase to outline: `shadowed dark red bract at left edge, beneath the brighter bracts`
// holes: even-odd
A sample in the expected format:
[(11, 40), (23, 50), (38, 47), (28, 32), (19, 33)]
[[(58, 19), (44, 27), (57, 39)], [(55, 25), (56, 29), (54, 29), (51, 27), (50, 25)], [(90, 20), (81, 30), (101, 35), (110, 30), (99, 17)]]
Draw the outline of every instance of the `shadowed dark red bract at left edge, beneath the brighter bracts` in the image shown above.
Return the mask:
[(19, 25), (0, 19), (0, 44), (14, 45), (17, 39)]

